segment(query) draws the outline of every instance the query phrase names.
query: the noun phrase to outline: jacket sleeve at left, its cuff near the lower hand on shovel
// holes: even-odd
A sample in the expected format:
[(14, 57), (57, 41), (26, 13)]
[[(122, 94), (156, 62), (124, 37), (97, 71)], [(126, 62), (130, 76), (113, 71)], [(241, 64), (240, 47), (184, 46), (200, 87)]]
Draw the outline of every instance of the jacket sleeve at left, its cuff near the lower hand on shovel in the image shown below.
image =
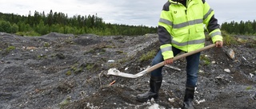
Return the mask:
[(166, 2), (162, 8), (160, 19), (158, 21), (158, 38), (160, 41), (160, 49), (164, 60), (174, 57), (172, 45), (170, 44), (172, 40), (170, 31), (172, 29), (173, 21), (169, 11), (169, 6), (170, 2)]

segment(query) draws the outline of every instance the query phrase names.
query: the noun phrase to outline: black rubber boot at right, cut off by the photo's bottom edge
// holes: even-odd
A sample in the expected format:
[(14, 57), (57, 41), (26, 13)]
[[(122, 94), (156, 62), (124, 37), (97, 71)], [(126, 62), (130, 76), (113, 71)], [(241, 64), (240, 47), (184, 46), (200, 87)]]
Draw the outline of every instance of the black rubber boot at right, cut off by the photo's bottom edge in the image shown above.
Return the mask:
[(182, 109), (194, 109), (194, 106), (192, 103), (193, 100), (194, 100), (194, 87), (186, 86)]

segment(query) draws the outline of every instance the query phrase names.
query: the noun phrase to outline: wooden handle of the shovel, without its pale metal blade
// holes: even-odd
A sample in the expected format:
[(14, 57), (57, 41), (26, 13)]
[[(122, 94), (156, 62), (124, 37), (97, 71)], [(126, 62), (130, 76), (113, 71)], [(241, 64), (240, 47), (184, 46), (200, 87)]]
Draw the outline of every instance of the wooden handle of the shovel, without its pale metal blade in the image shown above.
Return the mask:
[[(206, 49), (210, 49), (210, 48), (213, 48), (215, 46), (215, 44), (212, 44), (212, 45), (207, 45), (206, 47), (202, 48), (202, 49), (197, 49), (197, 50), (194, 50), (194, 51), (191, 51), (189, 53), (184, 53), (182, 55), (179, 55), (179, 56), (174, 56), (174, 60), (178, 60), (182, 57), (186, 57), (186, 56), (190, 56), (194, 53), (199, 53), (199, 52), (202, 52), (203, 50), (206, 50)], [(154, 69), (156, 68), (160, 68), (162, 67), (164, 64), (164, 61), (162, 61), (161, 63), (158, 63), (158, 64), (155, 64), (154, 66), (150, 67), (150, 68), (147, 68), (146, 69), (146, 72), (151, 72), (153, 71)]]

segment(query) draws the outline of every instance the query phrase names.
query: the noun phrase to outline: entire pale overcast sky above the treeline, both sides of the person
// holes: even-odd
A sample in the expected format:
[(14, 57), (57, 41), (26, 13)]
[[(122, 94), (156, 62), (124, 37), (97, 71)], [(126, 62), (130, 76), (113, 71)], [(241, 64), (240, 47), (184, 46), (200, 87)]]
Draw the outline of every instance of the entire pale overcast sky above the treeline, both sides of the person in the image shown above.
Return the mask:
[[(62, 12), (74, 15), (95, 15), (103, 21), (126, 25), (157, 26), (163, 4), (167, 0), (1, 0), (0, 12), (34, 15)], [(218, 23), (256, 20), (256, 0), (206, 0), (215, 11)]]

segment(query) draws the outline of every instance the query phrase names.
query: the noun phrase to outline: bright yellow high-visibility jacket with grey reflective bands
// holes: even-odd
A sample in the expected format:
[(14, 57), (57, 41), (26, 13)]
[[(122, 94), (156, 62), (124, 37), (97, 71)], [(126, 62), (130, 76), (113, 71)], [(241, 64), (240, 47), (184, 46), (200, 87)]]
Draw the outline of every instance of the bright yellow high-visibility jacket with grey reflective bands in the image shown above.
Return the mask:
[(174, 57), (172, 46), (184, 52), (203, 48), (204, 26), (213, 42), (222, 41), (214, 10), (207, 2), (187, 0), (186, 6), (177, 0), (166, 2), (158, 21), (158, 37), (164, 60)]

